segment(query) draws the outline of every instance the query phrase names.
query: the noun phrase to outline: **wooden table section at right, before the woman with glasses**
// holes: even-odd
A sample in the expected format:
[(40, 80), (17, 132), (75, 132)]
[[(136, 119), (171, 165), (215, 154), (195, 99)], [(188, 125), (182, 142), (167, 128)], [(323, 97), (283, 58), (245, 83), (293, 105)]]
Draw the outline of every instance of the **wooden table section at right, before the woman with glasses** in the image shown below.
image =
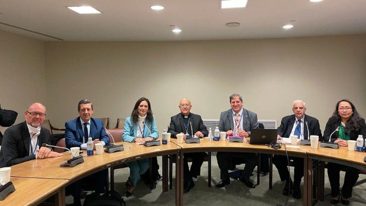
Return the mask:
[[(318, 147), (317, 149), (310, 149), (307, 151), (308, 168), (313, 167), (315, 161), (320, 161), (317, 165), (317, 193), (316, 197), (319, 201), (324, 201), (324, 176), (325, 176), (325, 162), (337, 163), (341, 165), (352, 166), (357, 169), (366, 169), (364, 162), (366, 154), (364, 152), (349, 151), (348, 147), (339, 147), (338, 149)], [(308, 187), (312, 188), (312, 181), (308, 179)], [(312, 201), (313, 193), (309, 193), (308, 201)]]

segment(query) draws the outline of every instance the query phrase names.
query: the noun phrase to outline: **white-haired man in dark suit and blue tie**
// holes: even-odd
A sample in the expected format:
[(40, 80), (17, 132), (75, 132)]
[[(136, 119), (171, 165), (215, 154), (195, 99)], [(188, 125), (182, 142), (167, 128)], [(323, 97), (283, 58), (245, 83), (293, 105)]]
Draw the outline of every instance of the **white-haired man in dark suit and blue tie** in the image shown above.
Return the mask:
[[(292, 104), (293, 115), (282, 118), (281, 125), (278, 127), (278, 137), (289, 138), (291, 135), (298, 136), (299, 140), (308, 140), (310, 135), (318, 135), (322, 137), (319, 121), (313, 117), (305, 115), (306, 105), (301, 100), (295, 100)], [(307, 132), (309, 131), (309, 133)], [(290, 195), (293, 190), (295, 199), (301, 198), (300, 183), (304, 176), (304, 159), (298, 157), (290, 157), (294, 164), (294, 182), (289, 178), (287, 158), (283, 155), (275, 155), (273, 164), (277, 167), (281, 181), (286, 181), (283, 195)]]

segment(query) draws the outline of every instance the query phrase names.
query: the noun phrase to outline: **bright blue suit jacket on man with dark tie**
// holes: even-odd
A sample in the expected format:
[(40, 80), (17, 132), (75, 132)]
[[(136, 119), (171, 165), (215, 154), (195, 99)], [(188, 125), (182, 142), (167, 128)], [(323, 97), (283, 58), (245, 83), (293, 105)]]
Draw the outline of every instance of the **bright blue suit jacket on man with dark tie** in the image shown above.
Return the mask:
[[(90, 134), (93, 140), (99, 139), (105, 144), (109, 144), (109, 136), (105, 132), (103, 123), (99, 119), (90, 118)], [(81, 126), (80, 117), (65, 123), (65, 143), (66, 147), (81, 146), (84, 138), (84, 131)]]

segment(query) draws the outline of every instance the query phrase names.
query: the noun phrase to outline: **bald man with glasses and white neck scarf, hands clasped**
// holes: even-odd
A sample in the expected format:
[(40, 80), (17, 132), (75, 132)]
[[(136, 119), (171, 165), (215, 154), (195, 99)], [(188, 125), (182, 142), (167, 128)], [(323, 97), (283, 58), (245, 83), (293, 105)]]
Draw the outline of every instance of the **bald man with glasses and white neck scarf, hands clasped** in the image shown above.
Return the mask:
[(43, 143), (49, 144), (50, 141), (50, 131), (41, 127), (46, 116), (46, 107), (41, 103), (32, 103), (25, 110), (24, 116), (25, 122), (9, 127), (4, 132), (0, 167), (62, 156), (42, 146)]

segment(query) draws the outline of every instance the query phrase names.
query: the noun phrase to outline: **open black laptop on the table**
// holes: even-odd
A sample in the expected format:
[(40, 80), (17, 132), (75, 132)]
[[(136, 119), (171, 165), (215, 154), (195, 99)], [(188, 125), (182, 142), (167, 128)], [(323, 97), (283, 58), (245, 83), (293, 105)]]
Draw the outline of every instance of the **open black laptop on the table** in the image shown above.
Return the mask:
[(270, 144), (277, 140), (277, 129), (252, 129), (249, 144)]

